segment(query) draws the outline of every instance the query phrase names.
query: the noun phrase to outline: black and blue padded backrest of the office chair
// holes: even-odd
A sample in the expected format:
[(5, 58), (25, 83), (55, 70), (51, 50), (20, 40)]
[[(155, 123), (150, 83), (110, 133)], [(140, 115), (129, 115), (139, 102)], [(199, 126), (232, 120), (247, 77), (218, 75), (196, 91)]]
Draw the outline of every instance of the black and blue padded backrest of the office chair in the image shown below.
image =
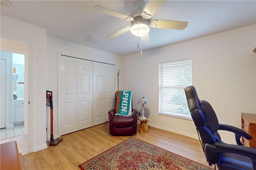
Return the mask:
[(185, 94), (188, 102), (188, 109), (191, 113), (192, 119), (196, 125), (196, 130), (200, 135), (202, 149), (209, 164), (216, 164), (220, 161), (220, 153), (206, 152), (204, 149), (205, 143), (214, 144), (220, 141), (220, 135), (217, 132), (219, 129), (219, 122), (212, 106), (206, 101), (200, 101), (194, 86), (185, 88)]

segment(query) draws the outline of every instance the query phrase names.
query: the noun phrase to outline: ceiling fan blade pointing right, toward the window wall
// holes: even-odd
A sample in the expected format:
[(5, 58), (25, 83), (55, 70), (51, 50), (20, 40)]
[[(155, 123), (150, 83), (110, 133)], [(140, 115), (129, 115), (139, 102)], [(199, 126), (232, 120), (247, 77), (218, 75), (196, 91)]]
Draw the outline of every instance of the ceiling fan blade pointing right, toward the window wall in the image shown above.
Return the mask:
[(152, 20), (150, 21), (150, 27), (178, 29), (183, 30), (188, 25), (185, 21), (170, 21), (170, 20)]

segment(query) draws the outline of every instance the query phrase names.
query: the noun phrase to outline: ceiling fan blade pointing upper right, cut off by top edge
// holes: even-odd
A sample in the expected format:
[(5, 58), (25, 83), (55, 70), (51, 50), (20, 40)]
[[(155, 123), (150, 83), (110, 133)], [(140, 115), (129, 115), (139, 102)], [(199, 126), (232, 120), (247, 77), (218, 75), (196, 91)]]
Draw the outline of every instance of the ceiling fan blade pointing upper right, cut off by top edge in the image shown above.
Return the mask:
[(150, 0), (141, 13), (144, 19), (150, 19), (166, 2), (167, 0)]

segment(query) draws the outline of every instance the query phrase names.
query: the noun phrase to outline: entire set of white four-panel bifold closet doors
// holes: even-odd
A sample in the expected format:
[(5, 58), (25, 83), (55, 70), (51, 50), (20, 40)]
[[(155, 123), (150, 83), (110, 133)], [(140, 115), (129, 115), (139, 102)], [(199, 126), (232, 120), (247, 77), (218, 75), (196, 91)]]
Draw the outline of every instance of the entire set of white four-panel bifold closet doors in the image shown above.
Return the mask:
[(58, 70), (58, 135), (107, 122), (115, 66), (59, 55)]

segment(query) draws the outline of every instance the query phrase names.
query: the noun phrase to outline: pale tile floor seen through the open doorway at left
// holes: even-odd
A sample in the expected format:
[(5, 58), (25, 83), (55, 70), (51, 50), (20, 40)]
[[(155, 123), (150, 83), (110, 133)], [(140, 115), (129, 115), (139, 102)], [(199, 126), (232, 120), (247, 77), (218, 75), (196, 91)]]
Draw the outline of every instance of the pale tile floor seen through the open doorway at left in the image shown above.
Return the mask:
[(11, 128), (0, 129), (0, 132), (0, 143), (16, 141), (19, 152), (22, 153), (22, 155), (28, 153), (28, 136), (24, 135), (24, 124), (16, 125)]

